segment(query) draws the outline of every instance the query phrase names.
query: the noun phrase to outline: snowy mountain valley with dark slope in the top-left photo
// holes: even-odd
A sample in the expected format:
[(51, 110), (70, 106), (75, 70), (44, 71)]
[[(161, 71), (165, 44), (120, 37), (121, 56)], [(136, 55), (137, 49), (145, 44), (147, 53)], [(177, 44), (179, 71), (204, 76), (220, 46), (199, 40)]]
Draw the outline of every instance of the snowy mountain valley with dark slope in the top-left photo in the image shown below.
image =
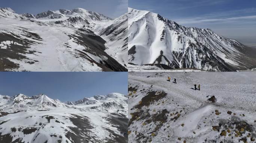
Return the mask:
[(127, 71), (127, 14), (0, 9), (0, 71)]

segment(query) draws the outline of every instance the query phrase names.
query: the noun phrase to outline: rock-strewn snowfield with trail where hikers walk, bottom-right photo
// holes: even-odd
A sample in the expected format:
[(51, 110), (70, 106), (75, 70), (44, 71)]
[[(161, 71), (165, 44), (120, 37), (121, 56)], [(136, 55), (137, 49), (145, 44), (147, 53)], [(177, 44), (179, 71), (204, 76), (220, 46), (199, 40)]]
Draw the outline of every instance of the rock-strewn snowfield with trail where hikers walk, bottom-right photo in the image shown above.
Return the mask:
[(130, 72), (128, 142), (255, 143), (255, 87), (255, 71)]

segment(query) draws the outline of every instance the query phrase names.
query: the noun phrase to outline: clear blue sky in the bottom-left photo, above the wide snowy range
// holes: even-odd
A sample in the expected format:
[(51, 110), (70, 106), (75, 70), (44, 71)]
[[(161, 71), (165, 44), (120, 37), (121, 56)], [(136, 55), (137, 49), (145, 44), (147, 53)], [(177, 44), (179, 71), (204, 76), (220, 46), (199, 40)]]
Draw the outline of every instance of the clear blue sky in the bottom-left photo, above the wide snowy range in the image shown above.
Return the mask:
[(127, 72), (0, 72), (0, 95), (44, 93), (60, 101), (112, 92), (127, 94)]

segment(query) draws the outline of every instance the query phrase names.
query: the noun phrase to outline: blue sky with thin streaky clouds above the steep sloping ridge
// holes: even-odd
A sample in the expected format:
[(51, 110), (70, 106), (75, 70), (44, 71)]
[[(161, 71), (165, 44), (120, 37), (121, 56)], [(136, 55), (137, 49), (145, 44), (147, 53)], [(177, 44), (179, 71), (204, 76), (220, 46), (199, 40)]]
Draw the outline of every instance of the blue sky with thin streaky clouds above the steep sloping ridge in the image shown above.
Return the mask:
[(256, 0), (129, 0), (128, 6), (256, 47)]

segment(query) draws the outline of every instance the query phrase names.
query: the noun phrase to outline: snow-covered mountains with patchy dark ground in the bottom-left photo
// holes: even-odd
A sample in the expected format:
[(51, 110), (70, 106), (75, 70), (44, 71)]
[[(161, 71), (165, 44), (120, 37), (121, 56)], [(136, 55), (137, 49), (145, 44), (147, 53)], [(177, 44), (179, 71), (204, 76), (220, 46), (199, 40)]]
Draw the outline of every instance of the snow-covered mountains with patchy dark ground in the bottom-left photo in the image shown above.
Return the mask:
[(127, 143), (127, 100), (119, 93), (74, 103), (44, 94), (0, 95), (0, 142)]

